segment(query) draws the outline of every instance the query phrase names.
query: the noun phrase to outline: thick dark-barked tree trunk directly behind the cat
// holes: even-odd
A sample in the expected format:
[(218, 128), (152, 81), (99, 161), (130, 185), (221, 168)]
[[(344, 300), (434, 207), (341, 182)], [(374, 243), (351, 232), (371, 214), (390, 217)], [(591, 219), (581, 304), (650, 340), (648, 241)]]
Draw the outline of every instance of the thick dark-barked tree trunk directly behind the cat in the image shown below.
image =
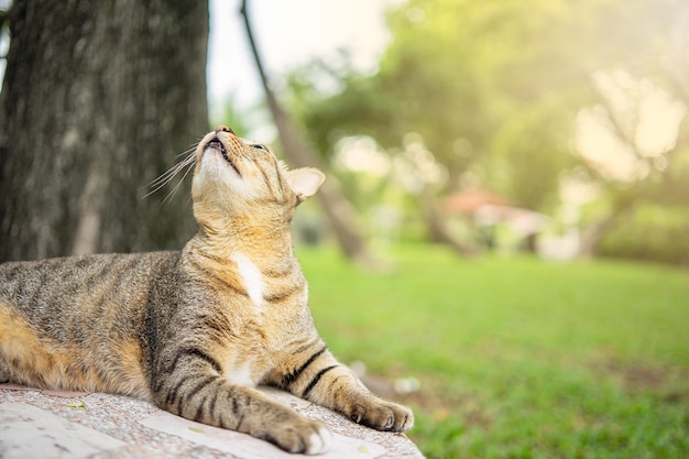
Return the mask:
[(0, 260), (178, 248), (186, 197), (142, 196), (208, 130), (206, 2), (14, 0), (8, 19)]

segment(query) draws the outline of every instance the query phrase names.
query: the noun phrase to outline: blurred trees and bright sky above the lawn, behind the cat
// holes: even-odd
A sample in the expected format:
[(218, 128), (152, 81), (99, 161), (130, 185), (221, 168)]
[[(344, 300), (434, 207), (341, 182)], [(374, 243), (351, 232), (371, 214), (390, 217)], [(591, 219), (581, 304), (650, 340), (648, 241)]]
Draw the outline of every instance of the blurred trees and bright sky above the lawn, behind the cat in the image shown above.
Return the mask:
[[(258, 78), (232, 72), (252, 59), (230, 3), (211, 14), (237, 25), (221, 45), (211, 26), (209, 100), (271, 138)], [(275, 90), (370, 237), (689, 260), (682, 2), (269, 3), (255, 24)]]

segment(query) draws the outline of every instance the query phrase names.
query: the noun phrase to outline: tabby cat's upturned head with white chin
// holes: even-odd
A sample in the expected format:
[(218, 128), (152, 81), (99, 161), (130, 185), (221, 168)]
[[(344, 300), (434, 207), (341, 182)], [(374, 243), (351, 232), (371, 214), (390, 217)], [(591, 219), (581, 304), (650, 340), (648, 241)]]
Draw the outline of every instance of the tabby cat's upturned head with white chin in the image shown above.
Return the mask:
[(296, 206), (311, 197), (325, 175), (316, 168), (287, 171), (263, 144), (247, 142), (219, 127), (196, 147), (192, 185), (199, 225), (229, 220), (288, 222)]

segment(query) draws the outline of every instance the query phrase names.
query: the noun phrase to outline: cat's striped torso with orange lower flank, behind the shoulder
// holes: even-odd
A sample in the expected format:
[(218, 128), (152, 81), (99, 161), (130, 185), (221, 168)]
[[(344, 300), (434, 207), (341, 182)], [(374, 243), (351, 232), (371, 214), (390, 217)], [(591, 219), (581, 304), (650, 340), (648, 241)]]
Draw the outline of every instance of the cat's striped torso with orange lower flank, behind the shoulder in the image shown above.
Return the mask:
[(178, 252), (99, 254), (0, 265), (0, 380), (150, 394), (141, 340), (150, 291)]

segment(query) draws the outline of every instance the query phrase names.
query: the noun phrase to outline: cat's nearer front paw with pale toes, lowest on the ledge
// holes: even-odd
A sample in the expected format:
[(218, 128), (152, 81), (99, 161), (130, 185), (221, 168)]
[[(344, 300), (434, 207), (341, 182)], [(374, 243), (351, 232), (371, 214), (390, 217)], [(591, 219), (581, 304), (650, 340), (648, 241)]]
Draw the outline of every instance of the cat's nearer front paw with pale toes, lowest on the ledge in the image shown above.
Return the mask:
[(320, 455), (332, 445), (332, 434), (325, 424), (305, 418), (277, 424), (265, 439), (285, 451), (303, 455)]

